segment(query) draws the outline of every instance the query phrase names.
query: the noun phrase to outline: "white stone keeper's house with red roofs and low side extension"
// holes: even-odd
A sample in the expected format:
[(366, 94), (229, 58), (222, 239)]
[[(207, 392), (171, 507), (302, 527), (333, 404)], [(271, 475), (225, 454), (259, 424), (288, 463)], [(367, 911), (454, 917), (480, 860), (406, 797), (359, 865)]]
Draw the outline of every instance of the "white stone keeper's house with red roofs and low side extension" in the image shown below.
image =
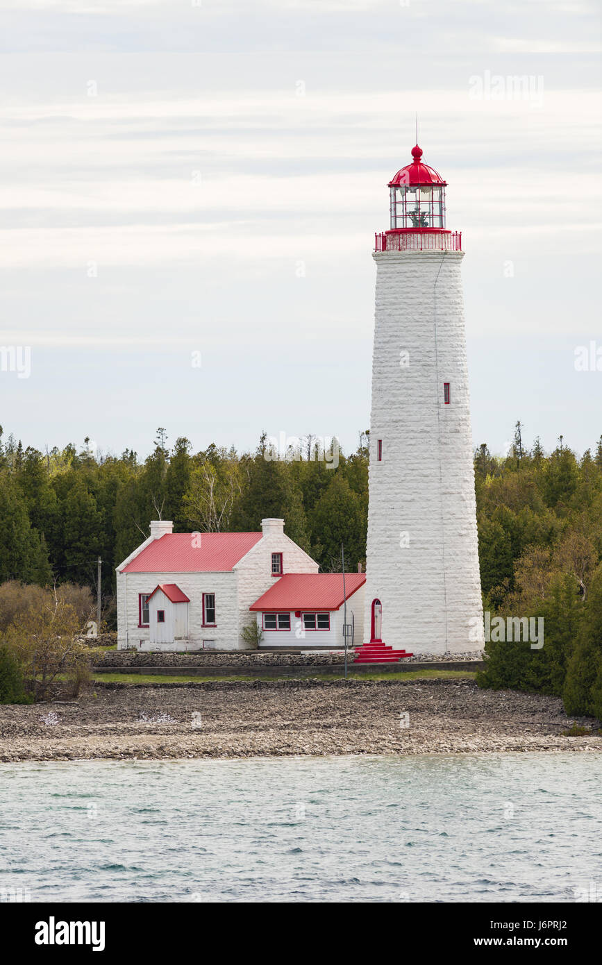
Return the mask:
[[(341, 647), (342, 575), (318, 574), (284, 527), (262, 519), (260, 533), (174, 533), (171, 522), (151, 522), (150, 537), (117, 567), (118, 648), (244, 649), (241, 631), (253, 620), (263, 646)], [(354, 604), (364, 581), (345, 577)], [(349, 601), (354, 619), (357, 645), (361, 605)]]

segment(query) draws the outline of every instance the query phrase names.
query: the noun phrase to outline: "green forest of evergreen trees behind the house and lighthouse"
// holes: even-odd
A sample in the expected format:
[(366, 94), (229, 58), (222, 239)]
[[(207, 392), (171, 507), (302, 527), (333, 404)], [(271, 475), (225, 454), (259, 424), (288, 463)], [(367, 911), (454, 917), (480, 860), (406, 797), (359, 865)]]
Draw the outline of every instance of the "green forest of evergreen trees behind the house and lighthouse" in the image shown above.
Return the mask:
[[(321, 457), (314, 437), (292, 458), (274, 458), (265, 435), (254, 453), (188, 439), (153, 451), (95, 455), (90, 440), (41, 453), (0, 430), (0, 583), (87, 585), (102, 558), (105, 613), (113, 619), (115, 566), (149, 533), (257, 531), (265, 516), (324, 571), (366, 559), (368, 434), (355, 453)], [(602, 710), (602, 437), (581, 458), (564, 445), (528, 448), (517, 423), (508, 455), (475, 453), (479, 559), (485, 609), (545, 620), (545, 645), (487, 645), (481, 683), (563, 694), (569, 713)], [(572, 695), (572, 696), (571, 696)], [(597, 713), (602, 716), (602, 713)]]

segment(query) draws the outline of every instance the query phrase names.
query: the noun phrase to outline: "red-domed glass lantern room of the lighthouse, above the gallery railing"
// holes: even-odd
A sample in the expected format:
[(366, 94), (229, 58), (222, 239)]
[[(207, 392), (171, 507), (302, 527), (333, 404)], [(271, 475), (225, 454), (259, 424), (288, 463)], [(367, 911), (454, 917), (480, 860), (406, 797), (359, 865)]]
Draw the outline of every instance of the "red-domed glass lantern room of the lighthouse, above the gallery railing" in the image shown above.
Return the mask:
[(422, 161), (422, 149), (412, 148), (413, 161), (389, 181), (392, 231), (445, 230), (446, 181)]

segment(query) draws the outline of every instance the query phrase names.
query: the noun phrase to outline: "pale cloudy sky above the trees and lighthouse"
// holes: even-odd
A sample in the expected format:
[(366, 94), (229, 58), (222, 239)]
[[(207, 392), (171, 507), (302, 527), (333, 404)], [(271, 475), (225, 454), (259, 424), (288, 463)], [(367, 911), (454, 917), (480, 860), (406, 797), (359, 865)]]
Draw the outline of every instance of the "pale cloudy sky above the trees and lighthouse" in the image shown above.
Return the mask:
[(0, 24), (5, 436), (354, 450), (418, 112), (466, 252), (475, 445), (520, 419), (595, 446), (598, 4), (0, 0)]

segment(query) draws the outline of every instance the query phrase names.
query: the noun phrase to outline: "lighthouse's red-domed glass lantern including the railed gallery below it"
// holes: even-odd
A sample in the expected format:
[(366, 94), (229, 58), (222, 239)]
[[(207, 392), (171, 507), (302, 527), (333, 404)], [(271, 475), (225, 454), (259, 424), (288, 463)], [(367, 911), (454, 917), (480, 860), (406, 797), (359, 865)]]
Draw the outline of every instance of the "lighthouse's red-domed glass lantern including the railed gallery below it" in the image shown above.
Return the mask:
[(462, 235), (446, 229), (447, 181), (422, 158), (423, 150), (416, 145), (412, 148), (412, 163), (389, 181), (391, 228), (376, 235), (376, 251), (461, 251)]

